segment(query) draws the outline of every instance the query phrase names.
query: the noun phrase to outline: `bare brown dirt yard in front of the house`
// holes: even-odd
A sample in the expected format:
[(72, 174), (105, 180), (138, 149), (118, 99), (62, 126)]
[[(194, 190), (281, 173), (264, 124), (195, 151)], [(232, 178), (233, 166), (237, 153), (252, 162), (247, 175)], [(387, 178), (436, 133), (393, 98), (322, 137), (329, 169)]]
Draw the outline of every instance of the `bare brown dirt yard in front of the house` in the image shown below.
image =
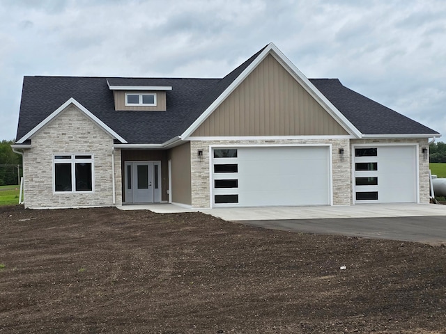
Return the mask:
[(0, 333), (446, 333), (444, 246), (114, 208), (0, 230)]

